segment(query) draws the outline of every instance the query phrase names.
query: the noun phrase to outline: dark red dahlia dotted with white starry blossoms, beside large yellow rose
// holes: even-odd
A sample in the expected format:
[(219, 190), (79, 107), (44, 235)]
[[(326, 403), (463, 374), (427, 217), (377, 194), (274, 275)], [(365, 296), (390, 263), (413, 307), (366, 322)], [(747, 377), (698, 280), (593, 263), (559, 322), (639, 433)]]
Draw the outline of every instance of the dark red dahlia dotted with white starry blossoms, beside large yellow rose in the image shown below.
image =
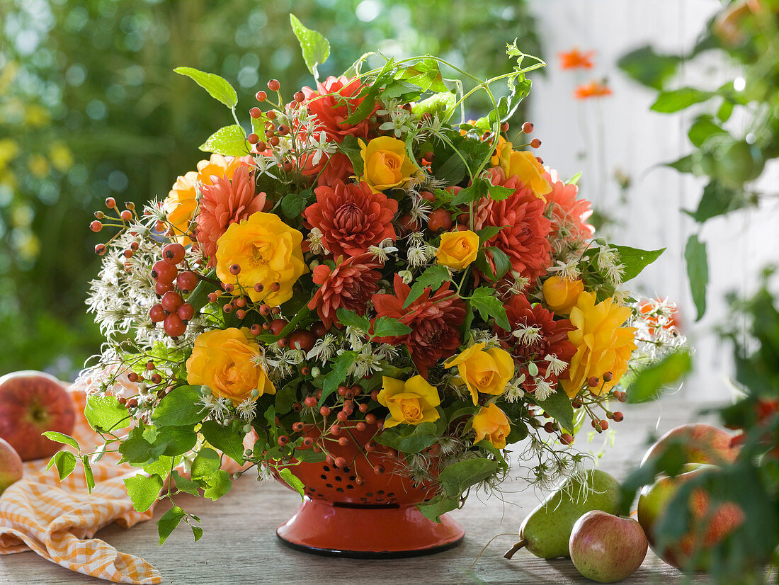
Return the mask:
[[(498, 336), (502, 347), (509, 351), (521, 372), (525, 375), (525, 389), (531, 392), (535, 388), (533, 376), (527, 371), (527, 362), (533, 361), (538, 366), (538, 375), (547, 379), (552, 386), (558, 379), (568, 378), (568, 367), (559, 372), (551, 368), (550, 361), (545, 358), (548, 355), (565, 361), (569, 364), (576, 347), (568, 340), (568, 332), (574, 327), (568, 319), (555, 321), (555, 314), (548, 312), (541, 304), (530, 305), (530, 301), (523, 294), (516, 294), (506, 305), (506, 316), (509, 318), (511, 331), (502, 330), (495, 326), (495, 335)], [(529, 332), (527, 328), (538, 328), (538, 333)], [(524, 332), (517, 337), (513, 332)]]

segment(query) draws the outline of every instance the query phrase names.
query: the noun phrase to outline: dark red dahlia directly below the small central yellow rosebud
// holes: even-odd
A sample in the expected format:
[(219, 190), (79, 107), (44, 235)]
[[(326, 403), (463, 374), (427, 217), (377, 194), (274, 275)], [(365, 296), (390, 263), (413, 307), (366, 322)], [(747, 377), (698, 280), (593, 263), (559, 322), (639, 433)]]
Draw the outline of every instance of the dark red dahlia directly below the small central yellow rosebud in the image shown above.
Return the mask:
[(460, 332), (457, 330), (465, 319), (465, 303), (444, 284), (435, 294), (430, 287), (406, 308), (403, 308), (411, 287), (395, 275), (395, 294), (374, 294), (373, 306), (376, 319), (392, 317), (411, 327), (411, 333), (401, 336), (381, 337), (379, 341), (393, 345), (405, 345), (411, 360), (421, 375), (428, 375), (431, 368), (442, 358), (454, 355), (460, 347)]

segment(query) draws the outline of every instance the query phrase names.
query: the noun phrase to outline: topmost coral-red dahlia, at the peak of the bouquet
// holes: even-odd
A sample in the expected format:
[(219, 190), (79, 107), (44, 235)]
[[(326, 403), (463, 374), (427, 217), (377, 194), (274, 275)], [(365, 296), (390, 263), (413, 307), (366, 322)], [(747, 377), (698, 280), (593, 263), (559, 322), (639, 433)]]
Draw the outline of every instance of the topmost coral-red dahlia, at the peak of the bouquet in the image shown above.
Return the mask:
[[(308, 112), (316, 116), (315, 132), (326, 132), (327, 137), (341, 143), (345, 136), (357, 136), (368, 138), (368, 118), (379, 107), (375, 104), (362, 122), (348, 124), (346, 119), (362, 103), (363, 97), (356, 97), (362, 90), (359, 79), (347, 79), (346, 76), (330, 76), (323, 83), (316, 84), (316, 90), (303, 87), (301, 91), (305, 96), (302, 104), (308, 108)], [(323, 96), (323, 97), (319, 97)], [(314, 99), (316, 98), (316, 99)]]

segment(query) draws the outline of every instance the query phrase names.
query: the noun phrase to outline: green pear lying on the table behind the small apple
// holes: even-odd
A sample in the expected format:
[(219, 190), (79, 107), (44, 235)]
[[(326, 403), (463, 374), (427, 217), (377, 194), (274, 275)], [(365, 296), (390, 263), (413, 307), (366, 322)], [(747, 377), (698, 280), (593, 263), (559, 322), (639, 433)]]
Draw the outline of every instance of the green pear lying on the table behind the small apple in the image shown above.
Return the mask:
[(506, 552), (511, 559), (520, 548), (541, 559), (569, 556), (568, 541), (576, 520), (592, 510), (616, 514), (619, 481), (605, 471), (587, 471), (583, 478), (569, 478), (534, 509), (520, 526), (520, 541)]

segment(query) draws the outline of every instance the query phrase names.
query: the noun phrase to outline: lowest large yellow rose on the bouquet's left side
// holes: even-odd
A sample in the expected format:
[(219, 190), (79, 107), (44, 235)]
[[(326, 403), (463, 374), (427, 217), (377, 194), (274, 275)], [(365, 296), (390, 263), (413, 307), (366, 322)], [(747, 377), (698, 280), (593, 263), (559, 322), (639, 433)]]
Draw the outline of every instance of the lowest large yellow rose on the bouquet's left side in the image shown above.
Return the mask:
[(238, 404), (252, 396), (275, 394), (265, 370), (256, 363), (259, 347), (235, 327), (200, 333), (187, 360), (187, 383), (208, 386), (214, 396)]

